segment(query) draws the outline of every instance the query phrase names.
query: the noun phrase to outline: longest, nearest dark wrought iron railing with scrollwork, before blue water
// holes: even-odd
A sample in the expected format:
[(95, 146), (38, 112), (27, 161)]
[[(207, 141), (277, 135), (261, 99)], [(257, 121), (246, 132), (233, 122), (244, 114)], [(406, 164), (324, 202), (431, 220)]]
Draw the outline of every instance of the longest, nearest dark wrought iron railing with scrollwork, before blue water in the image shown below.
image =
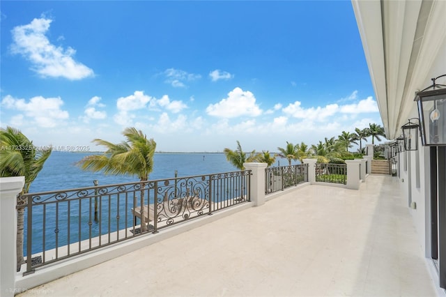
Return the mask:
[[(26, 271), (250, 201), (250, 171), (22, 195)], [(144, 224), (141, 221), (144, 220)]]

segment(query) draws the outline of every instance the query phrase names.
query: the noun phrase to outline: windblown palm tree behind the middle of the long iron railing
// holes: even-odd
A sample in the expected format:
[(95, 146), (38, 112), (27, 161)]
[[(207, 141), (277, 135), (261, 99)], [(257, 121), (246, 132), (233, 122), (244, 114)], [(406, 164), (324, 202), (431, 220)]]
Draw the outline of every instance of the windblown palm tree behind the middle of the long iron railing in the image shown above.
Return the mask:
[(105, 146), (107, 151), (102, 155), (89, 155), (77, 162), (84, 170), (92, 172), (104, 171), (104, 174), (130, 174), (138, 176), (141, 181), (141, 232), (147, 227), (143, 218), (144, 188), (148, 175), (153, 170), (153, 155), (155, 155), (156, 142), (147, 139), (146, 135), (136, 128), (129, 127), (123, 130), (127, 139), (119, 144), (112, 144), (102, 139), (93, 139), (95, 144)]

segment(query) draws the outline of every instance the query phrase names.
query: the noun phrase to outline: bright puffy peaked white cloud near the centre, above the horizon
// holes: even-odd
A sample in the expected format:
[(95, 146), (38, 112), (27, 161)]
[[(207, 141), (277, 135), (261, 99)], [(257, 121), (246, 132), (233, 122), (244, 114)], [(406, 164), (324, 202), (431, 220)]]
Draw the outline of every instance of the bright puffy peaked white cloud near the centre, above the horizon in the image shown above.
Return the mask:
[(262, 110), (259, 105), (256, 105), (253, 93), (237, 87), (228, 93), (228, 98), (208, 105), (206, 113), (210, 116), (235, 118), (237, 116), (259, 116), (262, 114)]

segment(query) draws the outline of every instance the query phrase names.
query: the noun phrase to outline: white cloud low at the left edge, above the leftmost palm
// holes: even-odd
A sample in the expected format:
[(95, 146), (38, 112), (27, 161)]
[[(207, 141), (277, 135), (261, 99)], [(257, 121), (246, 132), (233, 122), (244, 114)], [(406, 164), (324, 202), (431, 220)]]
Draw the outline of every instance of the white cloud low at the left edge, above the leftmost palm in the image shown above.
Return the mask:
[[(24, 116), (31, 119), (31, 123), (42, 128), (52, 128), (61, 125), (69, 115), (62, 110), (63, 101), (60, 97), (43, 98), (36, 96), (26, 102), (24, 99), (16, 99), (8, 95), (1, 100), (1, 105), (6, 109), (15, 109), (23, 112)], [(17, 114), (13, 121), (26, 121), (22, 114)]]

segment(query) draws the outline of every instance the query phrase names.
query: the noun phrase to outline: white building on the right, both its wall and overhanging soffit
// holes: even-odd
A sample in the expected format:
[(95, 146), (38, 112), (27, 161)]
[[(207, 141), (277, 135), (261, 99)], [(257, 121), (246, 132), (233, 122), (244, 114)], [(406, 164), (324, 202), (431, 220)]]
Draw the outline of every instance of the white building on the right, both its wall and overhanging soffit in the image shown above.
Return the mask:
[[(408, 119), (419, 118), (416, 92), (435, 77), (436, 84), (446, 84), (440, 77), (446, 75), (446, 1), (352, 4), (387, 139), (397, 139)], [(395, 178), (433, 278), (446, 289), (446, 146), (422, 146), (420, 137), (417, 142), (417, 151), (399, 153)]]

